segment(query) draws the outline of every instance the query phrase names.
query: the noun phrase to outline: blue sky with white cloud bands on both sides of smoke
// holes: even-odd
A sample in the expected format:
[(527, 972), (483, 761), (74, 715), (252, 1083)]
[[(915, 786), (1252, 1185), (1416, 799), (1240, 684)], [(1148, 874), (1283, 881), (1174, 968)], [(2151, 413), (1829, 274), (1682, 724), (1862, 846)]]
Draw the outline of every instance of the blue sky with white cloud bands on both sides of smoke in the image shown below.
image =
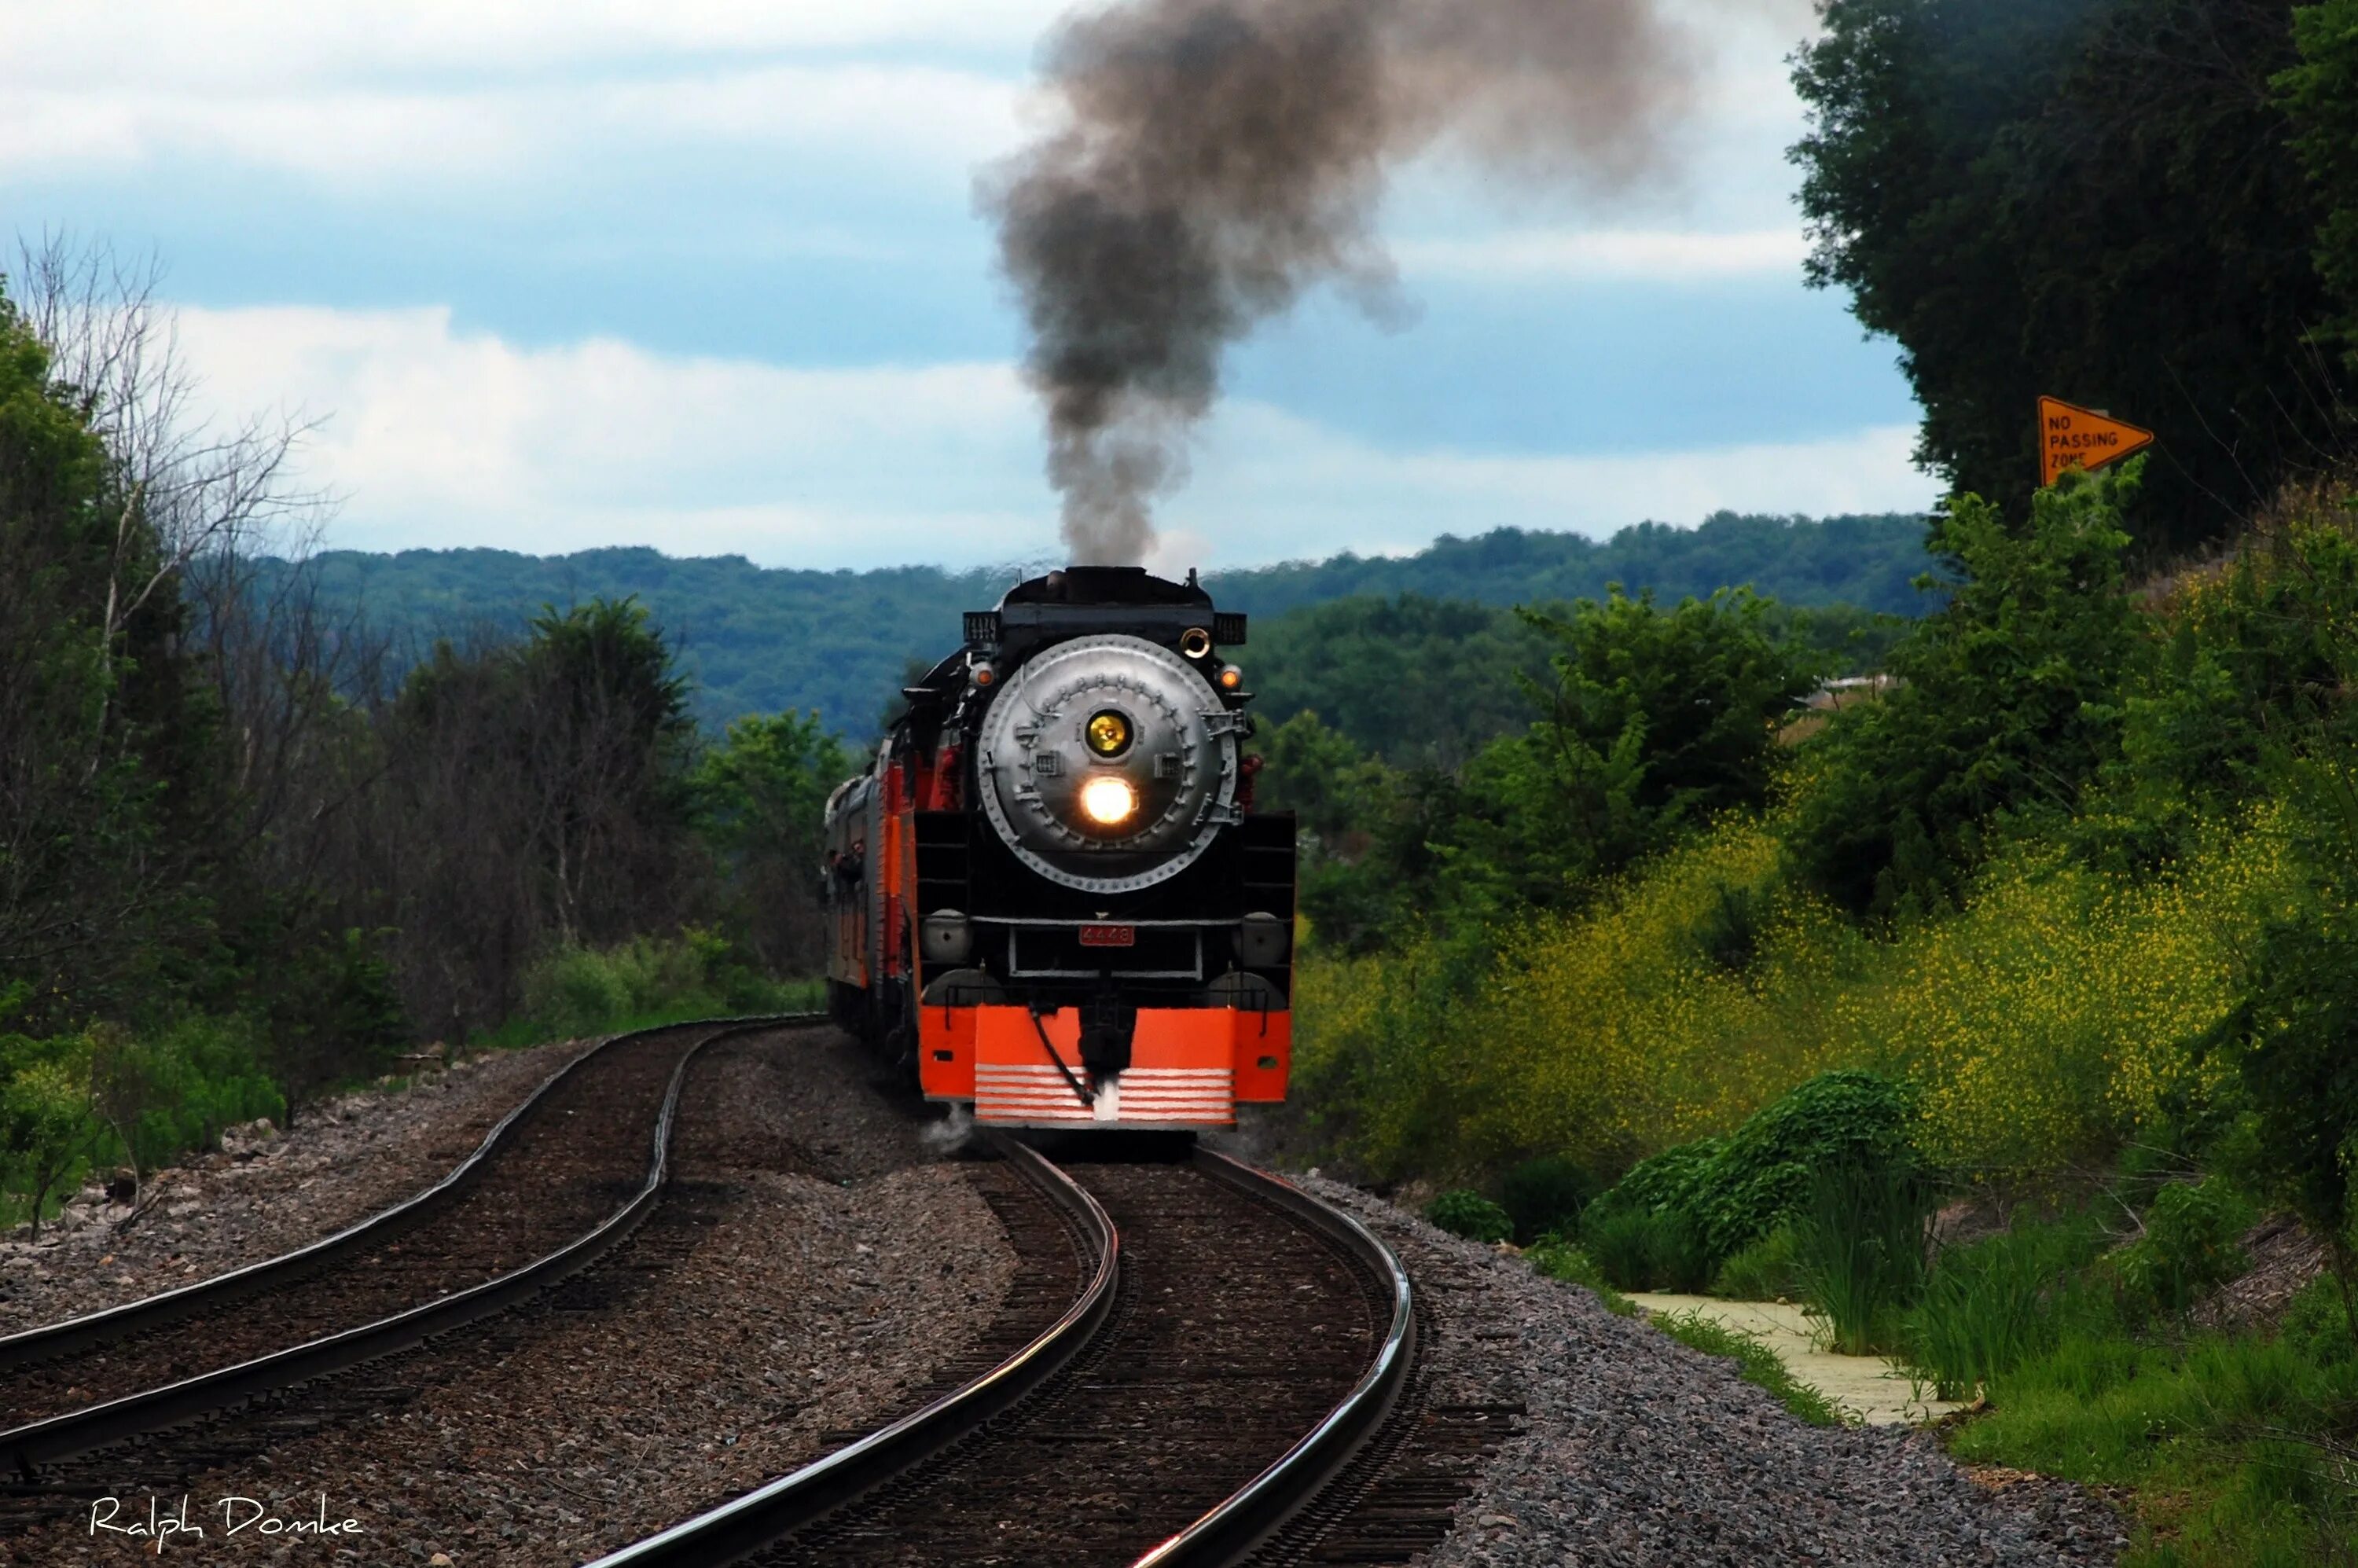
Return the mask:
[[(1802, 283), (1790, 0), (1681, 5), (1622, 191), (1398, 170), (1405, 309), (1231, 354), (1155, 566), (1931, 505), (1886, 340)], [(1056, 554), (979, 170), (1061, 0), (0, 0), (0, 224), (156, 257), (222, 420), (311, 427), (325, 545), (762, 566)]]

